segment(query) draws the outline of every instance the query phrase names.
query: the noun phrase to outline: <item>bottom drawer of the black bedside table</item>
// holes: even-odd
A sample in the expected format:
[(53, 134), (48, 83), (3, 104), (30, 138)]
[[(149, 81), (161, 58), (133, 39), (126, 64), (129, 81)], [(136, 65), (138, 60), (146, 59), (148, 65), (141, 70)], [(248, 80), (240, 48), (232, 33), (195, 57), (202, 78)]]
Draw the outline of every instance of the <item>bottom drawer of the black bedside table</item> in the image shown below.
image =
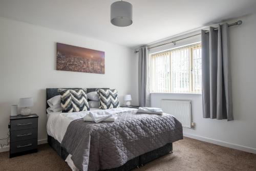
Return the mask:
[(12, 142), (10, 144), (10, 154), (29, 151), (37, 148), (37, 139)]

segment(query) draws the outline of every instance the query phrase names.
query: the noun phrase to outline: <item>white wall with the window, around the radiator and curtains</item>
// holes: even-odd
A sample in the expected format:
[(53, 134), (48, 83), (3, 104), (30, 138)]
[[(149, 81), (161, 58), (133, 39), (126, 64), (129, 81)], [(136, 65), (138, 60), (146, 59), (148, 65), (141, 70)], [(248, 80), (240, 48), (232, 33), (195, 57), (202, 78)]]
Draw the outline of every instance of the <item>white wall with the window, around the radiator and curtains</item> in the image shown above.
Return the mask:
[[(230, 57), (232, 74), (234, 121), (204, 119), (202, 96), (191, 94), (151, 94), (152, 106), (160, 107), (161, 99), (190, 99), (195, 130), (184, 129), (185, 136), (243, 151), (256, 153), (256, 14), (238, 18), (241, 26), (230, 28)], [(228, 23), (232, 23), (232, 20)], [(187, 40), (198, 41), (199, 37)], [(177, 46), (185, 44), (177, 42)], [(173, 48), (173, 45), (154, 49)], [(154, 52), (153, 49), (151, 53)]]

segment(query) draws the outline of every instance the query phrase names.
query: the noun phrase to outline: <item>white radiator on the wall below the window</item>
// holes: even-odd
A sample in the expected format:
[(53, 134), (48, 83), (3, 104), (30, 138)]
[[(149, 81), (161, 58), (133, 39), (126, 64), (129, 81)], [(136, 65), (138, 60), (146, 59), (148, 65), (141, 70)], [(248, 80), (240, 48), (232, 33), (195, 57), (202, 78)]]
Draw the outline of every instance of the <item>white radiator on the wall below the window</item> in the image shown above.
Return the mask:
[(161, 100), (164, 113), (175, 116), (183, 127), (191, 128), (191, 101), (189, 100)]

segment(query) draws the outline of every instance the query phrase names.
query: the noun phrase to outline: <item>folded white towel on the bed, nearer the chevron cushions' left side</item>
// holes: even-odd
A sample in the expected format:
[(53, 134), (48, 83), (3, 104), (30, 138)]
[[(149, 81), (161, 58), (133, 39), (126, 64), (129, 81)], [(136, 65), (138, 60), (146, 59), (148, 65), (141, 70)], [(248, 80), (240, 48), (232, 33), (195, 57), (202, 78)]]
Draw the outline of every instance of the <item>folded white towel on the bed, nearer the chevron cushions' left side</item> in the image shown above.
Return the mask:
[(117, 119), (117, 114), (102, 111), (90, 111), (86, 116), (83, 117), (84, 121), (89, 122), (114, 122)]

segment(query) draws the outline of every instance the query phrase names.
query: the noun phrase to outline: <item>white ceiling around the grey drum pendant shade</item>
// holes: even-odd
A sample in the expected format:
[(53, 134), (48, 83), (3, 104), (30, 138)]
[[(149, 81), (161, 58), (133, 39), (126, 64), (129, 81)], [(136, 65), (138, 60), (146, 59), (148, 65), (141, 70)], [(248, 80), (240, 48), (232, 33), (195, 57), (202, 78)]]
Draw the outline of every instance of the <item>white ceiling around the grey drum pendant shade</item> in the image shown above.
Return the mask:
[(126, 0), (133, 24), (110, 23), (114, 0), (0, 0), (0, 16), (130, 48), (253, 13), (255, 0)]

